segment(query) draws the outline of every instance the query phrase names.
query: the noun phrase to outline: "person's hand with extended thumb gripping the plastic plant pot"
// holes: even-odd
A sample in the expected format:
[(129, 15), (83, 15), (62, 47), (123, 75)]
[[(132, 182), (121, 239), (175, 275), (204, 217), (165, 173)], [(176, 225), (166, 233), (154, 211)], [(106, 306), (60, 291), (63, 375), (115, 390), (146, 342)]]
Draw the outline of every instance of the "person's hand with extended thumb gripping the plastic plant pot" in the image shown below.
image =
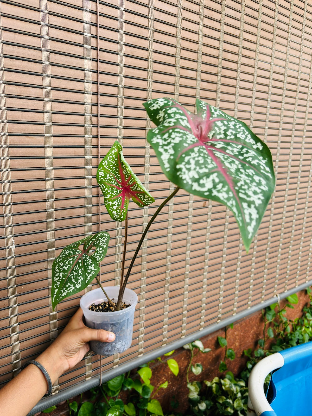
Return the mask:
[(112, 342), (115, 339), (112, 332), (86, 327), (82, 317), (83, 311), (79, 308), (57, 339), (36, 359), (45, 367), (52, 383), (82, 360), (90, 350), (89, 341)]

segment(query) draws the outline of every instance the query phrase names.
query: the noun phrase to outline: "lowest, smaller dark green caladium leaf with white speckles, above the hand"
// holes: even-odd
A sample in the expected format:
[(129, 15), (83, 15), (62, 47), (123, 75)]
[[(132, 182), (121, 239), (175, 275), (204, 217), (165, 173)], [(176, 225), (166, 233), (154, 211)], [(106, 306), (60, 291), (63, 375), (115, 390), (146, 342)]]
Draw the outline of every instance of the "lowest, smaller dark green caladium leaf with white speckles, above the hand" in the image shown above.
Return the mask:
[(65, 297), (75, 295), (92, 282), (100, 271), (99, 263), (106, 255), (109, 240), (110, 235), (102, 231), (63, 248), (52, 265), (53, 309)]

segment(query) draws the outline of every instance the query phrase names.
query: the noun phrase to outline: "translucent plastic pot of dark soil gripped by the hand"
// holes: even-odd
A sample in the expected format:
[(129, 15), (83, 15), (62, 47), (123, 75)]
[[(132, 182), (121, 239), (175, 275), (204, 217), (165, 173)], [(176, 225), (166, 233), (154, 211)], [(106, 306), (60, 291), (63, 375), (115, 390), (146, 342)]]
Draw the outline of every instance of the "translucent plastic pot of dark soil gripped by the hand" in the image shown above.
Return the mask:
[[(107, 296), (117, 302), (119, 286), (108, 286), (104, 287), (104, 289)], [(102, 289), (94, 289), (82, 296), (80, 306), (83, 310), (87, 327), (114, 332), (116, 338), (113, 342), (90, 342), (92, 351), (109, 357), (116, 352), (124, 352), (132, 343), (133, 318), (135, 306), (137, 305), (137, 294), (133, 290), (126, 288), (123, 302), (131, 306), (120, 311), (95, 312), (88, 309), (92, 303), (98, 304), (106, 300), (107, 298)]]

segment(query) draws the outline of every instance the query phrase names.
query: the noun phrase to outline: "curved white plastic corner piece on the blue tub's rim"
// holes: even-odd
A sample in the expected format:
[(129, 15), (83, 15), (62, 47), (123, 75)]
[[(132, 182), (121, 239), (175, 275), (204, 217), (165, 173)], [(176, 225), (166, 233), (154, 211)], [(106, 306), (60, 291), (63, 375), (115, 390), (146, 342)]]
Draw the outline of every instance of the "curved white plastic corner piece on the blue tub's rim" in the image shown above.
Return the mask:
[[(265, 411), (273, 411), (263, 390), (266, 376), (273, 370), (284, 365), (282, 354), (276, 352), (263, 358), (252, 369), (248, 380), (248, 413), (247, 416), (257, 414), (260, 416)], [(254, 411), (254, 412), (253, 412)]]

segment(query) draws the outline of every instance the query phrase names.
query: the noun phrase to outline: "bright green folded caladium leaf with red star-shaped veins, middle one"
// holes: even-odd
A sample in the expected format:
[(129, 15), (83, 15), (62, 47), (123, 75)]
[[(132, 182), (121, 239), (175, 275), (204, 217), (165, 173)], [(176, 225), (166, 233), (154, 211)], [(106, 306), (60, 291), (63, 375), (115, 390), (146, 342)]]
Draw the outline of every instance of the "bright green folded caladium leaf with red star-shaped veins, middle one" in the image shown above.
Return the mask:
[(155, 201), (125, 161), (117, 141), (100, 162), (96, 178), (106, 209), (115, 221), (126, 218), (130, 198), (141, 208)]

